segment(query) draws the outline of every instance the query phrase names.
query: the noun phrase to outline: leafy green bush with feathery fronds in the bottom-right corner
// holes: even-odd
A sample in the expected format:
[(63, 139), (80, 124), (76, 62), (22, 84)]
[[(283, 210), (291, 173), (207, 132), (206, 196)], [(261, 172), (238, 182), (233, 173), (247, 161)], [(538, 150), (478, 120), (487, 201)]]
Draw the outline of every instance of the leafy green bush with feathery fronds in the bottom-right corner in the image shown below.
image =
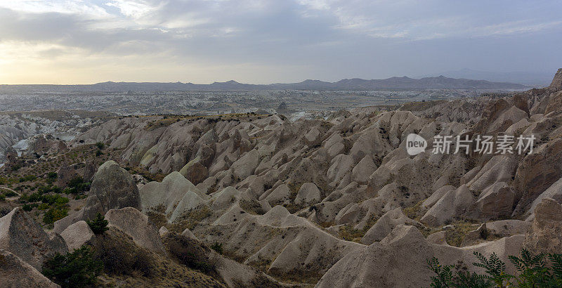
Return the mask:
[(431, 277), (431, 287), (562, 287), (562, 254), (533, 256), (521, 249), (521, 258), (508, 256), (518, 275), (506, 273), (506, 264), (495, 253), (489, 259), (478, 252), (473, 254), (478, 262), (472, 265), (483, 268), (484, 275), (442, 266), (433, 257), (427, 261), (428, 268), (436, 274)]

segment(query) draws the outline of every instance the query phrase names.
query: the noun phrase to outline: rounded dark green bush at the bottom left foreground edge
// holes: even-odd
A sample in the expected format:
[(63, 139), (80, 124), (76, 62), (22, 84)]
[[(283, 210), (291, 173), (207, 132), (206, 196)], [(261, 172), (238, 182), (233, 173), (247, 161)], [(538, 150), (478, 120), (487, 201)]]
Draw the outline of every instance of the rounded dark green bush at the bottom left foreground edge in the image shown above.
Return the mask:
[(84, 287), (94, 284), (103, 269), (103, 263), (93, 259), (93, 251), (82, 246), (66, 255), (47, 258), (43, 275), (61, 287)]

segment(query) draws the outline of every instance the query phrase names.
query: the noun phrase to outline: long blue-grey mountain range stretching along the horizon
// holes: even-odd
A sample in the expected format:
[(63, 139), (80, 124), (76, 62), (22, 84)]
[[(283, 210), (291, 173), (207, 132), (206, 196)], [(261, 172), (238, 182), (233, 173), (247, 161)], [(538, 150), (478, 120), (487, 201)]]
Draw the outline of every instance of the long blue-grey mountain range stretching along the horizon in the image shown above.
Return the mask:
[(103, 82), (90, 85), (0, 85), (1, 91), (255, 91), (255, 90), (379, 90), (379, 89), (528, 89), (528, 86), (509, 82), (455, 79), (444, 76), (412, 79), (343, 79), (336, 82), (305, 80), (299, 83), (242, 84), (237, 81), (212, 84), (159, 83), (159, 82)]

